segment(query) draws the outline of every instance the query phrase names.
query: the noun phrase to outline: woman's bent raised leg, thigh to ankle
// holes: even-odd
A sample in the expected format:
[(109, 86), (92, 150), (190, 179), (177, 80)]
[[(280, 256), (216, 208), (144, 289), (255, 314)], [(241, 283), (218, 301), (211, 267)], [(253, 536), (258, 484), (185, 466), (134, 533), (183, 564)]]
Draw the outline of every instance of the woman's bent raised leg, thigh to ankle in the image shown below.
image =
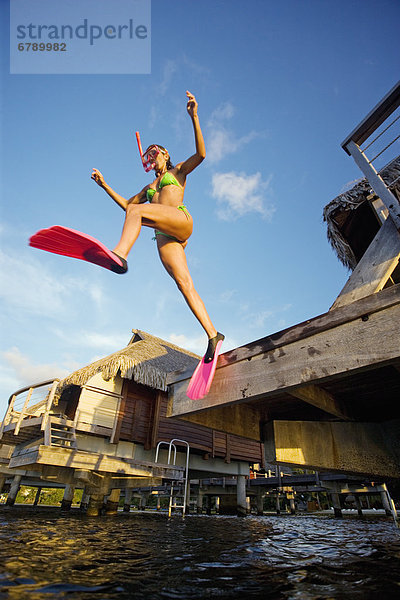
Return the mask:
[(174, 206), (163, 204), (129, 204), (121, 239), (113, 252), (126, 258), (136, 242), (142, 225), (159, 229), (182, 242), (186, 241), (193, 229), (192, 218)]

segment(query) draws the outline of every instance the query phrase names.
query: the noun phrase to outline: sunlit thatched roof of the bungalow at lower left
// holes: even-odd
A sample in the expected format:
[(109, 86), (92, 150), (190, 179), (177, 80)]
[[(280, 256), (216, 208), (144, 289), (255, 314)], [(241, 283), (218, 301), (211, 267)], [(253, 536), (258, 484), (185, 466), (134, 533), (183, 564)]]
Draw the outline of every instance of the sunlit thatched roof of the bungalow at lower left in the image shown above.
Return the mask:
[(180, 369), (195, 368), (200, 357), (166, 342), (149, 333), (133, 329), (133, 336), (126, 348), (75, 371), (63, 379), (57, 396), (71, 385), (85, 385), (88, 380), (101, 373), (108, 381), (118, 373), (124, 379), (133, 379), (148, 387), (166, 391), (167, 374)]

